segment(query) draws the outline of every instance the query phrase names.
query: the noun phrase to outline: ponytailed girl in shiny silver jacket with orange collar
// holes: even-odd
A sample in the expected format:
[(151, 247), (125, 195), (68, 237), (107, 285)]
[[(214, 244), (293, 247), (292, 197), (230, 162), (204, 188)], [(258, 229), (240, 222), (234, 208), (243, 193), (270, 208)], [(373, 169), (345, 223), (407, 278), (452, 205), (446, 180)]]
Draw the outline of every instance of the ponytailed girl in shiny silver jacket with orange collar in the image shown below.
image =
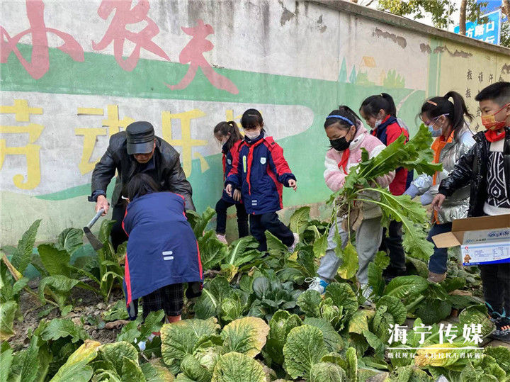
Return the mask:
[[(450, 101), (451, 99), (451, 101)], [(460, 157), (475, 144), (466, 118), (472, 120), (467, 111), (463, 97), (455, 91), (449, 91), (443, 97), (433, 97), (421, 106), (421, 120), (429, 127), (436, 140), (432, 143), (434, 163), (442, 163), (443, 171), (433, 176), (422, 174), (415, 179), (405, 194), (414, 198), (421, 195), (421, 203), (430, 204), (438, 193), (439, 184), (455, 168)], [(427, 240), (444, 232), (450, 232), (452, 221), (467, 217), (469, 207), (470, 185), (458, 189), (443, 204), (441, 210), (434, 210), (432, 227)], [(434, 245), (434, 252), (429, 259), (429, 281), (440, 283), (446, 279), (448, 251)]]

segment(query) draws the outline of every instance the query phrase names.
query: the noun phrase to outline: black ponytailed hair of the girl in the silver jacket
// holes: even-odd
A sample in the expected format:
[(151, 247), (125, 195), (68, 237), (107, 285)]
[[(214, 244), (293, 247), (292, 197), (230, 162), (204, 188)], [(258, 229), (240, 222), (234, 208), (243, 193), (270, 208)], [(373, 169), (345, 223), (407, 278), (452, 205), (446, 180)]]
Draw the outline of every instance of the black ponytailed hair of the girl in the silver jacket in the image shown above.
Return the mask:
[(428, 99), (421, 106), (421, 114), (423, 113), (431, 119), (446, 115), (454, 131), (454, 140), (458, 140), (458, 135), (465, 124), (465, 118), (468, 120), (473, 119), (472, 114), (467, 110), (463, 96), (456, 91), (448, 91), (442, 97)]

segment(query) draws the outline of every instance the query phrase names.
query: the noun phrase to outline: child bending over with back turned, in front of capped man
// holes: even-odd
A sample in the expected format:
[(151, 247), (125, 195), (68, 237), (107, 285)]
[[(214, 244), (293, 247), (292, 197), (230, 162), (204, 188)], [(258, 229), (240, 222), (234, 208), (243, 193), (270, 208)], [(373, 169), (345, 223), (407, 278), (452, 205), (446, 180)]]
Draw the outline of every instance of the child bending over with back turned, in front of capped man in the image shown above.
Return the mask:
[(158, 191), (152, 177), (140, 173), (123, 192), (129, 202), (122, 224), (128, 235), (125, 298), (132, 320), (141, 297), (144, 319), (149, 312), (163, 309), (168, 322), (175, 322), (181, 319), (183, 283), (188, 283), (186, 296), (190, 296), (190, 284), (203, 281), (202, 264), (184, 197)]

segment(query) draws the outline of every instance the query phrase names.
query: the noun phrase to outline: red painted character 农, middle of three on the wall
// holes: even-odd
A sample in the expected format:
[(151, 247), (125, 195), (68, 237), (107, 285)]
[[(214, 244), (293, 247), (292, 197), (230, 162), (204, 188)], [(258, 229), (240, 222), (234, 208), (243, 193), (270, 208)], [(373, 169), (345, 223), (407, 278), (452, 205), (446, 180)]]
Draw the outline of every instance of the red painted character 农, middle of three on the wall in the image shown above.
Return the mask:
[[(147, 0), (140, 0), (133, 9), (131, 9), (131, 1), (103, 0), (99, 6), (98, 15), (103, 18), (103, 20), (106, 20), (108, 16), (115, 11), (115, 16), (113, 16), (113, 20), (108, 30), (106, 30), (103, 40), (97, 44), (92, 41), (94, 50), (103, 50), (113, 41), (113, 55), (115, 56), (115, 60), (120, 67), (127, 72), (131, 72), (132, 69), (135, 69), (137, 66), (138, 60), (140, 60), (140, 50), (142, 47), (154, 53), (154, 55), (163, 57), (165, 60), (170, 60), (162, 48), (152, 42), (152, 38), (159, 33), (159, 28), (152, 18), (147, 17), (149, 8), (149, 1)], [(140, 30), (140, 32), (134, 33), (126, 29), (128, 24), (140, 23), (142, 21), (146, 21), (147, 26)], [(130, 40), (136, 45), (135, 49), (126, 60), (123, 60), (124, 40)]]

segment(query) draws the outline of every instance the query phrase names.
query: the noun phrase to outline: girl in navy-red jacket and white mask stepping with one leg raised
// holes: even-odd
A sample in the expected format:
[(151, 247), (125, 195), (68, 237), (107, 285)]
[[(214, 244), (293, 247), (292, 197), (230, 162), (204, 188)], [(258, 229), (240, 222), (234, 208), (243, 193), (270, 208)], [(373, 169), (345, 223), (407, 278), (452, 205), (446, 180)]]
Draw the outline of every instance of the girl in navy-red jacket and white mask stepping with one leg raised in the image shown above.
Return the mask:
[(283, 208), (283, 185), (296, 191), (296, 179), (283, 157), (283, 149), (272, 137), (266, 137), (261, 113), (253, 108), (241, 118), (244, 140), (237, 147), (232, 170), (225, 181), (229, 196), (241, 189), (246, 212), (250, 215), (250, 232), (266, 251), (268, 230), (293, 251), (299, 236), (280, 222), (276, 211)]

